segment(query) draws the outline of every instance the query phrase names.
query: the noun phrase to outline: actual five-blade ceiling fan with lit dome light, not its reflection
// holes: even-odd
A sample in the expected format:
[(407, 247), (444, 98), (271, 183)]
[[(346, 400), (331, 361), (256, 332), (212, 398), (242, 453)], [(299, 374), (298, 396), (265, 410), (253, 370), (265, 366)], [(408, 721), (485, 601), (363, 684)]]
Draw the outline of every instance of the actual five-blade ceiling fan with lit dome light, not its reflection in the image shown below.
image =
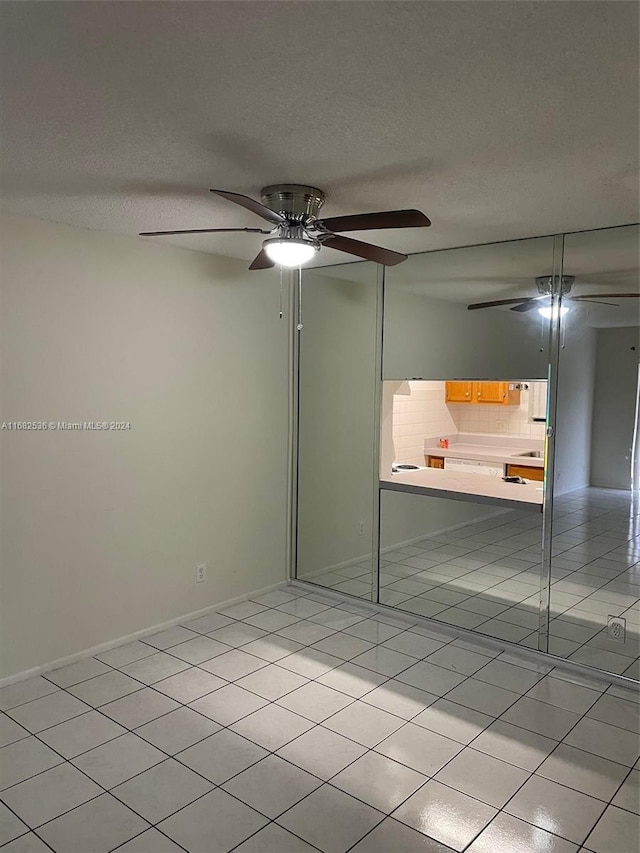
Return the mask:
[(297, 267), (311, 260), (322, 246), (356, 255), (367, 261), (393, 266), (407, 259), (400, 252), (383, 249), (342, 237), (340, 231), (370, 231), (382, 228), (426, 228), (429, 219), (419, 210), (386, 210), (380, 213), (357, 213), (353, 216), (334, 216), (318, 219), (325, 195), (316, 187), (303, 184), (274, 184), (260, 192), (262, 201), (227, 190), (210, 190), (215, 195), (239, 204), (261, 216), (270, 228), (195, 228), (181, 231), (142, 231), (141, 237), (160, 237), (167, 234), (214, 234), (246, 231), (250, 234), (269, 234), (262, 249), (251, 262), (250, 270), (262, 270), (280, 264)]

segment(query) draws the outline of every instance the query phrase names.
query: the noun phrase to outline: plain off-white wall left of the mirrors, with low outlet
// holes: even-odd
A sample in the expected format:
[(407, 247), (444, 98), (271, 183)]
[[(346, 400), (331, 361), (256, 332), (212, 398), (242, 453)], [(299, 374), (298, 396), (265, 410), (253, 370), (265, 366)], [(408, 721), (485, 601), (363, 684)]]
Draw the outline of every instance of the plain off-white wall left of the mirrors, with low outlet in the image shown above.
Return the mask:
[[(2, 675), (284, 579), (278, 275), (4, 218)], [(194, 567), (207, 564), (206, 582)]]

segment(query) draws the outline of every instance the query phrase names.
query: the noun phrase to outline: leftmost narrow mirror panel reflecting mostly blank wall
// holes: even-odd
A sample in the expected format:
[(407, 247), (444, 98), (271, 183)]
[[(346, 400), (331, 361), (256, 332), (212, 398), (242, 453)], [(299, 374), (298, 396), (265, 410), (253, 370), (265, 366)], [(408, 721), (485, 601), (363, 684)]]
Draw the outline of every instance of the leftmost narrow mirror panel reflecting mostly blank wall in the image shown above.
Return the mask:
[[(296, 577), (371, 599), (377, 276), (302, 271)], [(377, 555), (376, 555), (377, 558)]]

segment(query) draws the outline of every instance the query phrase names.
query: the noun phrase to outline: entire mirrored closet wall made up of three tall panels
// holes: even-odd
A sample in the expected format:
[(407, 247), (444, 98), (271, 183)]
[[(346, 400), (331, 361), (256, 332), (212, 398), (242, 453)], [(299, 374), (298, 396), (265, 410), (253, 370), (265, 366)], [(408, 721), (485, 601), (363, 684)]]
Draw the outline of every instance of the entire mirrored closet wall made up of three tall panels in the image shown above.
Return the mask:
[[(379, 499), (381, 603), (640, 680), (640, 299), (614, 296), (640, 292), (640, 233), (568, 234), (561, 255), (562, 241), (386, 269), (381, 386), (379, 270), (303, 272), (297, 576), (375, 601)], [(564, 294), (560, 271), (573, 276)], [(608, 298), (574, 298), (594, 294)], [(467, 307), (506, 299), (518, 301)], [(488, 400), (497, 385), (519, 399)], [(405, 484), (440, 460), (445, 474), (462, 440), (527, 444), (542, 505), (491, 499), (486, 471), (465, 472), (475, 493), (396, 490), (394, 463), (418, 466)]]

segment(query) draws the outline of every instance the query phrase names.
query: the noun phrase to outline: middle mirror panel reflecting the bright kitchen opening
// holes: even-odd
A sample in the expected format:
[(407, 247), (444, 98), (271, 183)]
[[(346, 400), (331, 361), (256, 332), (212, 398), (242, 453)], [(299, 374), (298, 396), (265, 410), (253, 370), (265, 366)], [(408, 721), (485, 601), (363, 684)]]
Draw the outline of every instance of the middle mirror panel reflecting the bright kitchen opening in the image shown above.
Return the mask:
[(532, 648), (550, 320), (529, 306), (553, 249), (428, 252), (385, 278), (381, 601)]

